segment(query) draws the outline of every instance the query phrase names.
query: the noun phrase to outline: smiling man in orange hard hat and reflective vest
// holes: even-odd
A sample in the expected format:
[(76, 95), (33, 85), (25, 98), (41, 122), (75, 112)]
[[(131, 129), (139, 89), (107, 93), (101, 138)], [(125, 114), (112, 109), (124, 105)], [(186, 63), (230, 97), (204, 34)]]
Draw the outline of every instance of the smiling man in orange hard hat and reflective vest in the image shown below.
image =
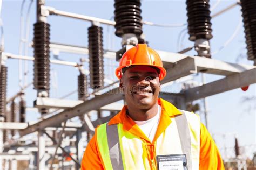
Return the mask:
[(199, 116), (158, 98), (165, 75), (146, 44), (126, 51), (116, 76), (127, 105), (96, 128), (82, 169), (224, 169)]

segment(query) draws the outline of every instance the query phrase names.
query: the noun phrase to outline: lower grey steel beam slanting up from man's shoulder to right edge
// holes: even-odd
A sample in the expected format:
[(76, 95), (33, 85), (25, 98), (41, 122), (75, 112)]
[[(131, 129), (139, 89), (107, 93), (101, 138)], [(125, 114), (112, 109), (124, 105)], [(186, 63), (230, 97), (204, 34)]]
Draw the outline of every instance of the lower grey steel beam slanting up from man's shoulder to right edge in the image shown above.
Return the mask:
[(223, 93), (228, 90), (245, 87), (253, 83), (256, 83), (256, 68), (246, 70), (239, 74), (227, 76), (224, 79), (213, 81), (204, 84), (203, 86), (187, 89), (184, 91), (185, 101), (191, 102), (207, 96)]

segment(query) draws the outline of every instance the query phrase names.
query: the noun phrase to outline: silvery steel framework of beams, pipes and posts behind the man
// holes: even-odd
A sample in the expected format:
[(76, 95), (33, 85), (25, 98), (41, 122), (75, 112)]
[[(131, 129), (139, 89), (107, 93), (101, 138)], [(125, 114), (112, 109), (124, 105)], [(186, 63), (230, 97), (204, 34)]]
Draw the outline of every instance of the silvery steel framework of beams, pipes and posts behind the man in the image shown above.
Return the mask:
[[(220, 12), (215, 13), (212, 17), (220, 15), (220, 13), (225, 12), (228, 9), (233, 8), (236, 4), (228, 7), (227, 9), (221, 10)], [(70, 13), (65, 11), (59, 11), (49, 6), (44, 6), (44, 1), (37, 1), (37, 20), (42, 20), (46, 22), (46, 18), (49, 15), (58, 15), (71, 18), (82, 19), (90, 22), (99, 22), (100, 24), (115, 25), (116, 22), (111, 20), (89, 17), (84, 15), (78, 15), (76, 13)], [(143, 22), (143, 24), (152, 25), (150, 22)], [(192, 48), (187, 48), (186, 50), (181, 51), (184, 53)], [(89, 54), (89, 50), (86, 47), (82, 46), (73, 46), (66, 44), (50, 43), (50, 50), (54, 53), (69, 52), (69, 53), (78, 53), (78, 54)], [(162, 61), (164, 62), (164, 67), (167, 70), (167, 76), (161, 84), (169, 83), (171, 81), (177, 80), (181, 77), (194, 74), (194, 73), (207, 73), (215, 75), (225, 76), (223, 79), (213, 81), (202, 86), (195, 88), (187, 89), (181, 91), (179, 94), (171, 93), (160, 93), (160, 97), (165, 98), (168, 101), (176, 103), (177, 107), (180, 109), (185, 109), (185, 103), (198, 100), (200, 98), (205, 98), (211, 95), (223, 93), (228, 90), (235, 88), (240, 88), (248, 86), (250, 84), (256, 83), (256, 67), (248, 65), (239, 65), (236, 63), (229, 63), (220, 60), (214, 60), (209, 58), (202, 58), (200, 56), (189, 56), (186, 54), (180, 53), (171, 53), (165, 51), (157, 51), (161, 56)], [(2, 53), (5, 58), (8, 59), (22, 59), (22, 60), (31, 60), (34, 58), (30, 56), (21, 56), (10, 53)], [(114, 51), (104, 51), (104, 58), (116, 59), (116, 52)], [(75, 62), (68, 61), (59, 61), (59, 60), (50, 60), (51, 63), (58, 65), (66, 65), (72, 67), (78, 67), (79, 64)], [(88, 73), (87, 73), (88, 74)], [(117, 82), (114, 82), (117, 83)], [(112, 86), (113, 84), (111, 84)], [(29, 85), (28, 85), (29, 86)], [(110, 86), (106, 86), (110, 87)], [(106, 88), (105, 87), (105, 88)], [(104, 89), (104, 88), (103, 88)], [(103, 90), (101, 89), (101, 90)], [(22, 89), (24, 90), (24, 89)], [(11, 97), (7, 102), (14, 100), (18, 97), (22, 90), (19, 91), (16, 95)], [(97, 94), (97, 95), (95, 95)], [(37, 132), (38, 144), (37, 147), (33, 146), (33, 151), (37, 152), (37, 169), (45, 169), (46, 158), (44, 157), (45, 151), (49, 148), (46, 146), (46, 136), (50, 138), (53, 145), (51, 149), (55, 149), (55, 155), (58, 153), (58, 148), (62, 150), (63, 153), (70, 155), (70, 152), (67, 151), (64, 147), (61, 146), (62, 143), (62, 134), (64, 132), (71, 132), (73, 136), (76, 136), (76, 152), (77, 156), (73, 157), (70, 155), (71, 159), (76, 163), (77, 169), (80, 166), (80, 160), (82, 159), (82, 154), (84, 150), (83, 140), (81, 133), (82, 131), (87, 131), (92, 134), (95, 133), (95, 127), (98, 124), (105, 123), (109, 121), (112, 117), (100, 117), (95, 121), (90, 120), (90, 112), (93, 110), (107, 110), (107, 111), (119, 111), (122, 109), (123, 104), (118, 101), (123, 100), (124, 95), (119, 91), (119, 88), (112, 88), (111, 90), (101, 94), (99, 91), (94, 91), (91, 98), (86, 101), (72, 101), (64, 99), (55, 99), (55, 98), (44, 98), (37, 97), (34, 102), (34, 107), (36, 108), (56, 108), (64, 109), (63, 111), (53, 114), (52, 116), (46, 117), (39, 120), (38, 122), (29, 124), (29, 123), (11, 123), (3, 122), (0, 120), (0, 137), (2, 136), (3, 130), (19, 130), (21, 137), (26, 134)], [(81, 123), (68, 122), (69, 119), (73, 117), (82, 117)], [(60, 137), (58, 140), (53, 138), (48, 131), (61, 131)], [(10, 144), (6, 144), (5, 147), (14, 148), (17, 142), (14, 141)], [(19, 159), (31, 159), (32, 155), (30, 154), (5, 154), (1, 153), (3, 148), (3, 143), (0, 141), (0, 163), (2, 164), (2, 159), (9, 160), (10, 158), (19, 160)], [(21, 146), (22, 149), (25, 149), (27, 146)], [(16, 148), (17, 149), (17, 148)], [(72, 147), (73, 149), (73, 147)], [(15, 163), (15, 162), (14, 162)], [(52, 164), (51, 164), (52, 167)]]

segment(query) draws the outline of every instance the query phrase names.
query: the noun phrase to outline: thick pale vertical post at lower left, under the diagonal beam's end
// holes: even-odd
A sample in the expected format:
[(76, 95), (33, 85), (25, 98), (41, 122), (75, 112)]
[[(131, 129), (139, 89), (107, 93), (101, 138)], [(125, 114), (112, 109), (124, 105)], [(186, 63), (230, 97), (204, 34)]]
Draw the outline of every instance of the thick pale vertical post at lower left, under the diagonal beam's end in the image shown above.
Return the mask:
[(38, 152), (37, 152), (37, 170), (45, 169), (45, 138), (42, 130), (38, 131)]

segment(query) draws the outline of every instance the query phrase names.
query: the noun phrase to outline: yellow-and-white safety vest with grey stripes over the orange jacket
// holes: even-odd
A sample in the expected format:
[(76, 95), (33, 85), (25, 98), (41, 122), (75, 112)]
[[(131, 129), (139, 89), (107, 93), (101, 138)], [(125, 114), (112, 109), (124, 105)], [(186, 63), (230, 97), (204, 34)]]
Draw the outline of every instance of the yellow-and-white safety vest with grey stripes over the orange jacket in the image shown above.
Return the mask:
[[(199, 169), (200, 118), (183, 111), (171, 119), (171, 124), (157, 138), (155, 155), (186, 154), (187, 168)], [(107, 123), (97, 128), (97, 145), (106, 169), (157, 169), (154, 161), (147, 159), (144, 141), (123, 130), (123, 124)], [(152, 164), (154, 164), (152, 168)]]

